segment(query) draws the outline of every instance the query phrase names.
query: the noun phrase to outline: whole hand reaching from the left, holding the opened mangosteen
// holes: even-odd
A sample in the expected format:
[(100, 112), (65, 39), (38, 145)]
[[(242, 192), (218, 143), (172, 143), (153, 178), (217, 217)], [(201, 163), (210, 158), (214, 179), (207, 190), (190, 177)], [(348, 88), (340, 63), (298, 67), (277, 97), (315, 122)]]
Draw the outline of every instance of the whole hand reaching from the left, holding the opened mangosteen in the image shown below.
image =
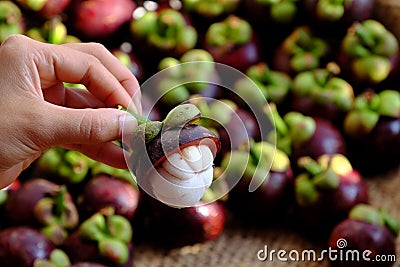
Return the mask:
[(140, 114), (140, 101), (134, 75), (100, 44), (8, 37), (0, 46), (0, 188), (53, 146), (127, 168), (114, 141), (137, 121), (114, 107), (129, 106)]

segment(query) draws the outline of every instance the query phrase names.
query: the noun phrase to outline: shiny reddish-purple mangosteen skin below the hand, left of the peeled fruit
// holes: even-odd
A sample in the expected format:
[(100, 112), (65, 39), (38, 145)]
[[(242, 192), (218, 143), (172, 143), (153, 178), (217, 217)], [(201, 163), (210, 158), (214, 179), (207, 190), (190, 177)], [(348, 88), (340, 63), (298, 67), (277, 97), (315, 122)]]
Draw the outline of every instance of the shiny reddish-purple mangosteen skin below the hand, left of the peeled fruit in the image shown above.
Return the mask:
[(129, 182), (106, 174), (90, 179), (79, 197), (78, 206), (83, 217), (89, 217), (106, 207), (128, 220), (133, 218), (139, 202), (139, 190)]

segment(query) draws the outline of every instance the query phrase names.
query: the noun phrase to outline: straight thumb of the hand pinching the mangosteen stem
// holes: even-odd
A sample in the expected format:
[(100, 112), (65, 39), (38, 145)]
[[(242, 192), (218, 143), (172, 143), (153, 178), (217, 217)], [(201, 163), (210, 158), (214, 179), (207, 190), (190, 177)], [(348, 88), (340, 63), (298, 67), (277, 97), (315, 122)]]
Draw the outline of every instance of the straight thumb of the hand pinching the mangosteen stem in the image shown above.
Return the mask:
[(70, 109), (56, 106), (50, 114), (46, 116), (47, 127), (41, 129), (42, 138), (48, 140), (49, 146), (121, 140), (125, 133), (132, 132), (137, 126), (137, 120), (128, 112), (113, 108)]

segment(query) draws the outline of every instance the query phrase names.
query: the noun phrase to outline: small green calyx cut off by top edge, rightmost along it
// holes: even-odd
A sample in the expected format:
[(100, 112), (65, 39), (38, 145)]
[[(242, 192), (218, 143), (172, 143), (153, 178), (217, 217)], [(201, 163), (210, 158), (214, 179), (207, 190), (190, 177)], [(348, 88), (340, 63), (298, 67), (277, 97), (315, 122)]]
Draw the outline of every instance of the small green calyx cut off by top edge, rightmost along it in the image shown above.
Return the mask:
[(338, 21), (345, 12), (345, 5), (351, 0), (319, 0), (316, 6), (317, 17), (325, 21)]

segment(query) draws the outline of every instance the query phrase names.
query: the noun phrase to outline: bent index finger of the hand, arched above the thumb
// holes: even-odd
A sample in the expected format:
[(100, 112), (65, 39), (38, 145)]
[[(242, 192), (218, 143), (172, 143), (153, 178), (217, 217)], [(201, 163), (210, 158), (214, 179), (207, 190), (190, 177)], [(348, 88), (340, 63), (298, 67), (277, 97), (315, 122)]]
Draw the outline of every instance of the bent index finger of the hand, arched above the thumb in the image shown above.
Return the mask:
[[(37, 48), (38, 56), (34, 57), (41, 79), (82, 83), (108, 107), (118, 104), (128, 106), (131, 102), (132, 96), (122, 85), (123, 82), (136, 87), (131, 90), (139, 91), (133, 74), (120, 81), (93, 55), (68, 46), (47, 45), (49, 45), (48, 50), (43, 47)], [(140, 110), (133, 111), (140, 112)]]

